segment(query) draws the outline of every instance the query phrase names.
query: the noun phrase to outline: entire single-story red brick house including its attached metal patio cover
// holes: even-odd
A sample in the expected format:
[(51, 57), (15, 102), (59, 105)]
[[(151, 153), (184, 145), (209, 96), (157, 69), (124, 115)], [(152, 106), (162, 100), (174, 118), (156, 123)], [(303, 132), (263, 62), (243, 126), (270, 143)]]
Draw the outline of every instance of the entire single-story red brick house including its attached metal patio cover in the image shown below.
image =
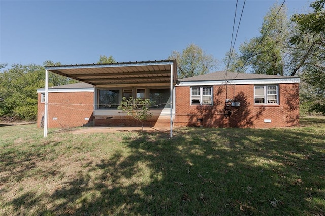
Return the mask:
[[(297, 77), (219, 71), (177, 80), (176, 61), (170, 60), (46, 69), (83, 82), (48, 88), (49, 127), (140, 126), (117, 109), (122, 97), (131, 96), (155, 101), (145, 126), (299, 125)], [(38, 89), (39, 126), (45, 93)]]

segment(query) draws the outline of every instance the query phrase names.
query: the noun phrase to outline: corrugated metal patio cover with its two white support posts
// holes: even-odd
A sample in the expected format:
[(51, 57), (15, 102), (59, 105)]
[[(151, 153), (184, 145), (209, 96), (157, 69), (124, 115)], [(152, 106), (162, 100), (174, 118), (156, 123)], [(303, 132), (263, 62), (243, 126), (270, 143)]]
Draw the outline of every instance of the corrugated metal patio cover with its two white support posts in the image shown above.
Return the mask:
[[(122, 62), (111, 64), (76, 64), (46, 66), (44, 137), (48, 133), (48, 73), (52, 72), (96, 87), (116, 85), (164, 84), (170, 85), (173, 103), (173, 85), (177, 80), (176, 60)], [(173, 137), (173, 104), (171, 104), (171, 137)]]

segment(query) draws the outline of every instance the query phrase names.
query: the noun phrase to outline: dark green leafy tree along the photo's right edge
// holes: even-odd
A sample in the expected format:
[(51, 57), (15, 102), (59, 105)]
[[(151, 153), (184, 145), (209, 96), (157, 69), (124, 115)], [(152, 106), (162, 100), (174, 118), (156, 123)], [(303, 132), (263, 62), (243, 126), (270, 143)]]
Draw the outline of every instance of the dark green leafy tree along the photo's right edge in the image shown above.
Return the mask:
[[(311, 3), (313, 11), (295, 14), (291, 19), (297, 27), (290, 43), (302, 53), (298, 59), (303, 82), (308, 84), (308, 95), (303, 101), (310, 111), (325, 115), (325, 0)], [(293, 71), (293, 75), (296, 70)]]

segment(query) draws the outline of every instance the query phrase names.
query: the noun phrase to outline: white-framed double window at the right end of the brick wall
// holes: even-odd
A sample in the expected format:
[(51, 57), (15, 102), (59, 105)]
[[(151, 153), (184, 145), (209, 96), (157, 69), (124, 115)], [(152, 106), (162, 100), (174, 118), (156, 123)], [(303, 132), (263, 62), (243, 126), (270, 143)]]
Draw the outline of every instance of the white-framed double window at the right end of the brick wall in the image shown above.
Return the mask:
[(279, 104), (278, 86), (254, 86), (254, 104)]

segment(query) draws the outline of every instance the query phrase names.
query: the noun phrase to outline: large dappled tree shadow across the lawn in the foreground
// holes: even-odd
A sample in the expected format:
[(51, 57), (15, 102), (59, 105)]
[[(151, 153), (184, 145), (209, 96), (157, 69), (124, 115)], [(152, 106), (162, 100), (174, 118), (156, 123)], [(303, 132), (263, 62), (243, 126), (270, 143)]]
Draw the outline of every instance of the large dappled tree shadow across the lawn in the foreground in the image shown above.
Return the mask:
[(296, 130), (178, 129), (124, 137), (65, 187), (7, 205), (40, 215), (298, 215), (325, 211), (323, 134)]

